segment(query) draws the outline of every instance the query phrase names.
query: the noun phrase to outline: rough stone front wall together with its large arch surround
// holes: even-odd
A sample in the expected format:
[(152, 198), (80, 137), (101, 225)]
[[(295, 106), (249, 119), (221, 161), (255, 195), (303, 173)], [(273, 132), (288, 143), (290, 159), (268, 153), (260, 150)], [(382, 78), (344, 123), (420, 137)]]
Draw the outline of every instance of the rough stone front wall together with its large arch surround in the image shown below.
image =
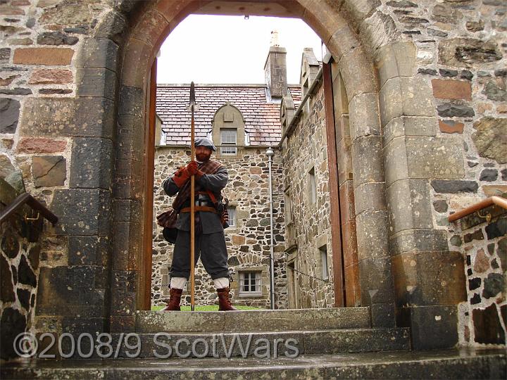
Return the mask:
[[(134, 329), (148, 233), (144, 91), (159, 42), (200, 6), (168, 4), (1, 1), (1, 176), (23, 178), (61, 218), (42, 236), (37, 331)], [(346, 89), (353, 188), (368, 194), (354, 203), (361, 304), (374, 325), (411, 327), (414, 348), (499, 343), (481, 333), (484, 321), (506, 331), (503, 219), (461, 232), (445, 220), (506, 191), (506, 8), (287, 2), (323, 39)], [(3, 249), (13, 276), (23, 250)], [(1, 302), (4, 313), (20, 300)]]

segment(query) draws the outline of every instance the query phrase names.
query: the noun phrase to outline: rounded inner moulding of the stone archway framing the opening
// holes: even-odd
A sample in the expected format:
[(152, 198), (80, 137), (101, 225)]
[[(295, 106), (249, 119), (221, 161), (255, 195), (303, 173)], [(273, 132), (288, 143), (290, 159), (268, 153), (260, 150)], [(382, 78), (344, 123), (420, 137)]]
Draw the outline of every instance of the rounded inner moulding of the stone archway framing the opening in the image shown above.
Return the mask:
[[(234, 3), (230, 4), (228, 14), (238, 12), (234, 10)], [(287, 12), (306, 21), (322, 37), (344, 77), (351, 115), (354, 187), (361, 194), (368, 194), (364, 199), (360, 198), (356, 201), (362, 303), (371, 305), (374, 321), (383, 326), (394, 326), (394, 289), (388, 247), (387, 205), (377, 106), (378, 85), (375, 70), (370, 63), (373, 53), (370, 53), (370, 58), (365, 53), (365, 51), (375, 49), (371, 46), (369, 49), (363, 48), (358, 35), (349, 27), (349, 25), (361, 24), (358, 18), (364, 18), (368, 13), (358, 12), (355, 6), (344, 4), (351, 18), (347, 23), (338, 6), (329, 5), (323, 1), (291, 1), (290, 3), (284, 1), (280, 4)], [(280, 6), (280, 4), (277, 5)], [(144, 133), (137, 133), (139, 139), (135, 141), (132, 137), (135, 134), (135, 127), (146, 125), (146, 99), (151, 63), (170, 30), (202, 5), (194, 1), (178, 1), (168, 6), (166, 2), (153, 1), (149, 6), (144, 4), (142, 9), (130, 12), (134, 26), (123, 42), (125, 53), (120, 77), (117, 144), (132, 147), (132, 149), (129, 149), (130, 156), (128, 157), (125, 157), (121, 151), (117, 154), (115, 165), (117, 172), (114, 179), (118, 187), (118, 191), (115, 191), (115, 202), (128, 205), (135, 210), (130, 215), (143, 215), (146, 207), (142, 203), (144, 198), (142, 196), (144, 185), (141, 183), (144, 159), (142, 146), (149, 142), (140, 138), (140, 136), (145, 136)], [(373, 10), (372, 6), (370, 8)], [(208, 6), (208, 9), (211, 8)], [(226, 10), (220, 9), (220, 13), (224, 11)], [(373, 38), (368, 35), (363, 36), (363, 39), (370, 44), (373, 42)], [(389, 42), (388, 36), (384, 36), (384, 42)], [(389, 74), (395, 75), (396, 72), (391, 68)], [(138, 132), (145, 129), (146, 127)], [(124, 131), (130, 132), (123, 133)], [(113, 220), (118, 220), (117, 215), (113, 215)], [(128, 221), (118, 220), (113, 224), (114, 255), (127, 254), (127, 258), (123, 260), (123, 267), (114, 267), (113, 270), (139, 273), (139, 257), (143, 239), (139, 221), (131, 217)], [(374, 236), (370, 228), (373, 225), (382, 226), (374, 229)], [(118, 236), (120, 236), (119, 239)], [(113, 292), (112, 298), (113, 305), (118, 304), (114, 302), (115, 298), (118, 301), (123, 300), (119, 303), (123, 303), (125, 299), (134, 302), (132, 298), (125, 298), (123, 292)], [(135, 309), (136, 305), (130, 305), (129, 310)], [(111, 318), (115, 319), (114, 310), (111, 310)]]

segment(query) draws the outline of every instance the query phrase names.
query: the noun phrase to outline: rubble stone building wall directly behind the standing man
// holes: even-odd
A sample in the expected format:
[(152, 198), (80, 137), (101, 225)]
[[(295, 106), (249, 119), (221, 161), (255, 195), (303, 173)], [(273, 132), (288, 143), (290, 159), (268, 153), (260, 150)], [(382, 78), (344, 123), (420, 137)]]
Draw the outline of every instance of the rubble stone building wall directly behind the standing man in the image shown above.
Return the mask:
[[(157, 146), (154, 184), (154, 215), (163, 212), (173, 202), (172, 197), (165, 195), (161, 184), (173, 174), (176, 167), (189, 161), (188, 148), (177, 146)], [(232, 298), (236, 305), (253, 305), (270, 308), (270, 205), (268, 192), (268, 156), (265, 148), (239, 148), (239, 155), (216, 156), (215, 158), (227, 167), (229, 182), (223, 194), (236, 208), (237, 227), (225, 229), (225, 239), (229, 254), (228, 264), (234, 272), (231, 283)], [(273, 222), (275, 251), (275, 305), (287, 308), (287, 284), (284, 277), (283, 262), (283, 191), (281, 156), (275, 151), (273, 156)], [(152, 272), (152, 305), (164, 305), (169, 295), (168, 270), (173, 254), (173, 245), (163, 239), (161, 227), (154, 224), (154, 259)], [(262, 271), (262, 296), (239, 296), (239, 271)], [(196, 267), (196, 305), (217, 303), (215, 286), (211, 277), (204, 270), (201, 260)], [(188, 305), (190, 296), (182, 298), (182, 305)]]

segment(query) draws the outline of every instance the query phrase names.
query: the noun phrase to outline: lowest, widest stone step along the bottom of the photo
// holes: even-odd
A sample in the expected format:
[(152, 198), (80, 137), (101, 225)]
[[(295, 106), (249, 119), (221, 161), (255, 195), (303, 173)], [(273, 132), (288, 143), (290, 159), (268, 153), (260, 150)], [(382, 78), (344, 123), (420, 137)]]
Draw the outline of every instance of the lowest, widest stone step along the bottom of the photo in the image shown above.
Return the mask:
[(1, 379), (506, 379), (505, 350), (434, 350), (295, 358), (34, 360)]

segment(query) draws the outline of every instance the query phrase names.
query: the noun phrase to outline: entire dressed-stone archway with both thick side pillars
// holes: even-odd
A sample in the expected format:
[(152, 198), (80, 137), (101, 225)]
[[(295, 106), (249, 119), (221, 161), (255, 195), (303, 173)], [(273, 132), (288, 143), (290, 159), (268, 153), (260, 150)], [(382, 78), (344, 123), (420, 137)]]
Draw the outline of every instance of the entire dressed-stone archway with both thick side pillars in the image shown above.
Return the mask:
[[(38, 8), (35, 0), (18, 3)], [(139, 305), (137, 259), (146, 209), (142, 174), (148, 73), (170, 30), (199, 6), (213, 8), (215, 4), (191, 0), (101, 1), (100, 6), (82, 1), (37, 2), (43, 3), (43, 13), (37, 10), (34, 18), (36, 30), (39, 25), (59, 30), (69, 23), (80, 26), (73, 32), (86, 33), (80, 34), (77, 43), (75, 38), (65, 42), (73, 47), (48, 48), (37, 43), (12, 52), (2, 49), (13, 64), (8, 71), (23, 70), (19, 83), (30, 84), (32, 69), (39, 71), (44, 65), (57, 63), (72, 69), (60, 72), (69, 81), (65, 89), (35, 85), (37, 94), (30, 88), (3, 90), (20, 99), (7, 103), (8, 113), (13, 113), (9, 122), (20, 115), (15, 135), (7, 140), (13, 144), (7, 148), (12, 157), (8, 161), (15, 163), (19, 158), (16, 165), (23, 169), (23, 177), (33, 179), (44, 172), (32, 172), (32, 156), (16, 156), (23, 144), (31, 144), (32, 138), (42, 145), (48, 138), (56, 139), (49, 151), (63, 155), (58, 157), (63, 163), (58, 165), (58, 180), (39, 192), (48, 194), (45, 199), (60, 222), (48, 232), (54, 237), (57, 257), (40, 271), (37, 314), (42, 324), (56, 321), (66, 331), (134, 330), (134, 310)], [(396, 312), (398, 326), (412, 327), (415, 348), (453, 346), (457, 305), (465, 300), (465, 271), (461, 253), (449, 251), (449, 229), (439, 229), (433, 220), (430, 182), (465, 177), (463, 141), (439, 132), (435, 108), (442, 103), (432, 96), (427, 76), (435, 70), (423, 68), (426, 63), (416, 58), (427, 52), (422, 41), (410, 40), (409, 34), (417, 31), (403, 27), (404, 17), (378, 0), (236, 4), (250, 3), (263, 4), (259, 12), (273, 4), (270, 12), (277, 7), (282, 12), (277, 15), (290, 11), (302, 18), (338, 61), (351, 121), (362, 298), (363, 305), (370, 305), (373, 325), (392, 326)], [(418, 8), (423, 14), (431, 12), (431, 7)], [(33, 24), (31, 15), (25, 14), (27, 25)], [(405, 18), (409, 24), (411, 20)], [(462, 42), (457, 41), (461, 39), (447, 41), (437, 34), (434, 38), (439, 53), (461, 49)], [(463, 39), (463, 46), (468, 42), (482, 44)], [(416, 51), (416, 46), (422, 50)], [(494, 56), (495, 61), (501, 59), (497, 51)], [(434, 68), (449, 63), (482, 67), (475, 66), (477, 62), (469, 66), (441, 61), (437, 64), (434, 56)], [(485, 67), (493, 68), (491, 63)], [(470, 79), (472, 72), (463, 70), (463, 74)], [(12, 79), (9, 75), (7, 81)], [(44, 153), (46, 148), (39, 146), (37, 152)], [(64, 180), (65, 173), (68, 179)]]

